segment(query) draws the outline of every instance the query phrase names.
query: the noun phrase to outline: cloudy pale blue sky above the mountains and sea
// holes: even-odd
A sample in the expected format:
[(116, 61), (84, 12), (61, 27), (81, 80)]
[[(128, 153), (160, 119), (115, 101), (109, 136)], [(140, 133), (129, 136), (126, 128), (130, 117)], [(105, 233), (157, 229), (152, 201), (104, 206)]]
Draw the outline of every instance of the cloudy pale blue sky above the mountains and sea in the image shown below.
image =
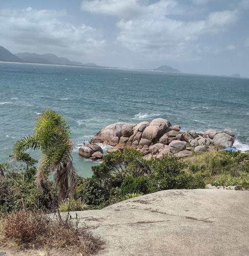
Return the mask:
[(249, 77), (249, 0), (0, 0), (0, 45), (100, 66)]

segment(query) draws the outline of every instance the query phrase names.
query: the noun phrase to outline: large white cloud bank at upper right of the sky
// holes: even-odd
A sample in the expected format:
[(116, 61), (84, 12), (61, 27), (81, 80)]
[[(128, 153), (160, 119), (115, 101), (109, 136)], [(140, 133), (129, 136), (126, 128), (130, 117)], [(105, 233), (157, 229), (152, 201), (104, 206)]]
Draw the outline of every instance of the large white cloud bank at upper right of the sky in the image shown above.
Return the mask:
[[(194, 0), (195, 1), (195, 0)], [(212, 0), (197, 0), (205, 4)], [(180, 1), (93, 0), (83, 1), (82, 10), (119, 18), (117, 44), (133, 52), (161, 58), (182, 58), (205, 51), (198, 39), (205, 34), (226, 31), (236, 22), (238, 10), (211, 12), (202, 19), (180, 18), (185, 6)], [(186, 11), (185, 11), (186, 12)], [(189, 15), (189, 14), (188, 14)], [(213, 51), (213, 50), (212, 50)]]

